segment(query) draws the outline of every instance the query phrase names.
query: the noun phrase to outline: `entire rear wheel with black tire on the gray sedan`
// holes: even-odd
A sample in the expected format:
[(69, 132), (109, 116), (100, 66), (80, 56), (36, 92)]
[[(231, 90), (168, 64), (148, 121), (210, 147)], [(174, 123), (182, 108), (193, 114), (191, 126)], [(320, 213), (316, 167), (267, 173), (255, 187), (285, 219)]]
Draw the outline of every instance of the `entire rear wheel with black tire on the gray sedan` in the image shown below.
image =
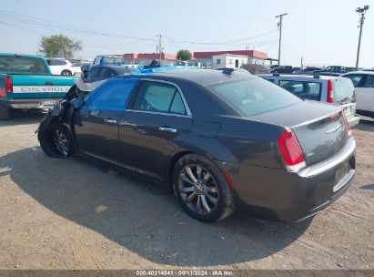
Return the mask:
[[(188, 170), (190, 172), (195, 170), (193, 175), (197, 177), (200, 175), (197, 178), (200, 183), (198, 180), (194, 185), (185, 182)], [(208, 177), (204, 182), (207, 174), (210, 174), (210, 178)], [(188, 179), (191, 180), (189, 177)], [(197, 154), (187, 154), (177, 161), (173, 171), (173, 190), (182, 208), (197, 221), (221, 221), (236, 209), (233, 193), (223, 172), (213, 162)], [(197, 204), (198, 198), (200, 198), (200, 209)], [(205, 200), (203, 201), (202, 198)], [(207, 211), (206, 207), (210, 210)]]

